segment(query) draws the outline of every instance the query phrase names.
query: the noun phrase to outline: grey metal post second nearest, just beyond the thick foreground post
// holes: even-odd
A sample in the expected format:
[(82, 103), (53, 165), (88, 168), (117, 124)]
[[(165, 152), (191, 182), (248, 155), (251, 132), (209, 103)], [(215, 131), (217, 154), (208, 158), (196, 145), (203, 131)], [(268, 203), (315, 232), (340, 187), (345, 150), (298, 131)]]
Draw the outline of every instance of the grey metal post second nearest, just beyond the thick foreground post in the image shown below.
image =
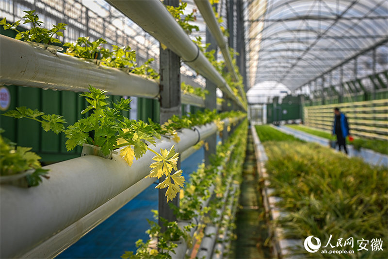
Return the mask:
[[(210, 34), (208, 28), (206, 28), (206, 43), (210, 43), (207, 51), (209, 52), (215, 50), (214, 57), (217, 59), (217, 43), (213, 36)], [(217, 108), (216, 88), (217, 86), (214, 83), (206, 79), (206, 89), (209, 91), (209, 94), (207, 94), (205, 97), (205, 107), (210, 110)], [(208, 143), (208, 145), (205, 146), (205, 165), (210, 165), (210, 155), (216, 153), (217, 133), (212, 134), (205, 141)]]

